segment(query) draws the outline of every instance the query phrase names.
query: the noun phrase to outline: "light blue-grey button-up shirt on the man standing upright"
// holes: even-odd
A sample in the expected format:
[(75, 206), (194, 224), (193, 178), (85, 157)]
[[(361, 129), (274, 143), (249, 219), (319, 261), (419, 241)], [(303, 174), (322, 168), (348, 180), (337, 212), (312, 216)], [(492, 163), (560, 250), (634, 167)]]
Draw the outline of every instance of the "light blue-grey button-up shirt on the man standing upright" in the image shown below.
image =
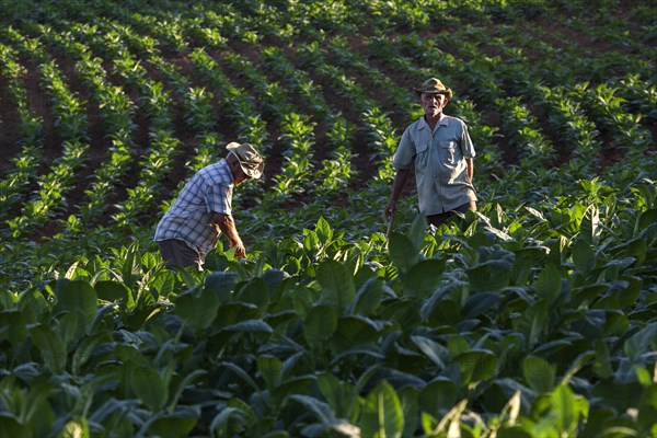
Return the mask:
[(399, 170), (415, 164), (419, 212), (429, 216), (476, 200), (465, 164), (474, 157), (465, 123), (443, 114), (434, 130), (424, 117), (408, 125), (392, 165)]

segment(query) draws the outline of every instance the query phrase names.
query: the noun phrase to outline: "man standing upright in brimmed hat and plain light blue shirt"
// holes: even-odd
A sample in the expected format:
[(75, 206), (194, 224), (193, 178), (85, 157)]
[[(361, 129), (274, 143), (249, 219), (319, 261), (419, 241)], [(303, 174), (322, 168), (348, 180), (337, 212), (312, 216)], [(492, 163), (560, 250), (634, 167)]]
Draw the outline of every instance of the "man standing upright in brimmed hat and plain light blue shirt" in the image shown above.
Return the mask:
[(414, 91), (425, 114), (402, 135), (392, 161), (396, 174), (384, 212), (392, 220), (399, 196), (415, 165), (419, 212), (428, 224), (438, 227), (453, 211), (476, 210), (472, 185), (475, 152), (465, 123), (442, 113), (452, 97), (451, 90), (431, 78)]

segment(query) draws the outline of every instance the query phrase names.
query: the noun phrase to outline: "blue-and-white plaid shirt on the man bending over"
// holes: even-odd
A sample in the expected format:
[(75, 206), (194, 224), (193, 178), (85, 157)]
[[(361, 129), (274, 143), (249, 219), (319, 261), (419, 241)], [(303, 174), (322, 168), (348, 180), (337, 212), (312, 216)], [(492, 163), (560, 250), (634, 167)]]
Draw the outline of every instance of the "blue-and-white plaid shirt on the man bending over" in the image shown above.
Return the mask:
[(203, 168), (158, 223), (154, 241), (182, 240), (205, 257), (221, 234), (212, 221), (215, 214), (231, 214), (233, 182), (226, 160)]

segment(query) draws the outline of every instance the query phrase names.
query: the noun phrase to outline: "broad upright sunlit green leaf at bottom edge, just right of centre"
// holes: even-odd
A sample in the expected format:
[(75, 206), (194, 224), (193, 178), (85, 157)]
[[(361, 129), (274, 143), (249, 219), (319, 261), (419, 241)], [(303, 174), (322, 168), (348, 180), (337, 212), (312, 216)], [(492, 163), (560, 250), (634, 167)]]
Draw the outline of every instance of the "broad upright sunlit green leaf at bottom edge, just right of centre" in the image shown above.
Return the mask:
[(404, 411), (394, 389), (388, 382), (380, 383), (365, 399), (358, 420), (364, 437), (401, 437), (404, 431)]

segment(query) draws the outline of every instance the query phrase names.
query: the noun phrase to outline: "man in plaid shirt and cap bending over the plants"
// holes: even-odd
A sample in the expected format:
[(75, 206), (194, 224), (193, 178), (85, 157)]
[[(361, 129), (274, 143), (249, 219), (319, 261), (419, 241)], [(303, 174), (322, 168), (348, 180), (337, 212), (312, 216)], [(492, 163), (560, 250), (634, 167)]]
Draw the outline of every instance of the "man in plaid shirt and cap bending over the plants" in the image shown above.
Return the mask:
[(246, 250), (231, 215), (233, 186), (249, 178), (260, 178), (263, 158), (249, 143), (229, 143), (228, 154), (218, 163), (198, 171), (185, 184), (155, 230), (154, 241), (162, 258), (175, 266), (203, 269), (208, 252), (224, 234), (235, 256)]

